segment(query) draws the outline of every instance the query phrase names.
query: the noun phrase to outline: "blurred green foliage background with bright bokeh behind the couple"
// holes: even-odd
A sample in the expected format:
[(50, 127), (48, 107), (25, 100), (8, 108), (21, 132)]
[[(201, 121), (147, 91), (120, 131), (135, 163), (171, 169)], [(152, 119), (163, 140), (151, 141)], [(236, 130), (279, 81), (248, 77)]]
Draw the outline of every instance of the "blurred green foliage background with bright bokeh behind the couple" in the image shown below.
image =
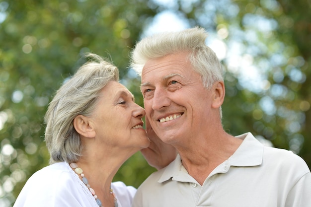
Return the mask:
[[(224, 67), (225, 130), (251, 132), (310, 167), (310, 11), (311, 0), (0, 0), (0, 206), (11, 207), (48, 165), (43, 116), (83, 53), (119, 67), (143, 106), (131, 49), (146, 35), (196, 25)], [(153, 171), (138, 152), (115, 180), (138, 187)]]

